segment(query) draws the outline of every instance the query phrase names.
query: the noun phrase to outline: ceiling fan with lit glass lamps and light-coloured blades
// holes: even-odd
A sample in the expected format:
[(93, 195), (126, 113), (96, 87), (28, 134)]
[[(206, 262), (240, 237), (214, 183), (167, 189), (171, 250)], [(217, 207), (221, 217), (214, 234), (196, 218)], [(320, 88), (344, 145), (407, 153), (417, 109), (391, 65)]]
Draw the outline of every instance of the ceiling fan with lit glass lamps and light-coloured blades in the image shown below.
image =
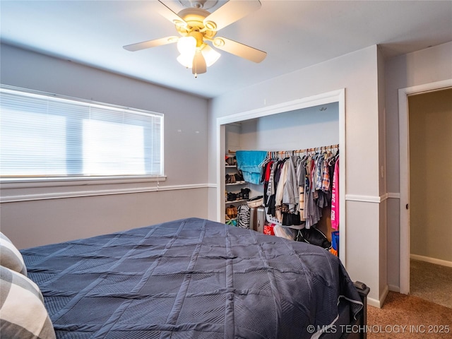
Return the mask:
[(216, 36), (218, 30), (261, 8), (260, 1), (229, 0), (213, 13), (206, 11), (206, 9), (215, 6), (218, 0), (179, 0), (182, 5), (189, 6), (179, 13), (174, 13), (162, 1), (159, 0), (159, 2), (162, 5), (159, 13), (174, 23), (180, 36), (162, 37), (156, 40), (128, 44), (124, 46), (124, 49), (136, 52), (141, 49), (177, 42), (177, 49), (181, 53), (177, 57), (177, 61), (187, 68), (191, 68), (195, 77), (198, 74), (206, 73), (207, 67), (220, 57), (220, 53), (210, 47), (207, 42), (222, 51), (256, 63), (266, 58), (266, 52), (225, 37)]

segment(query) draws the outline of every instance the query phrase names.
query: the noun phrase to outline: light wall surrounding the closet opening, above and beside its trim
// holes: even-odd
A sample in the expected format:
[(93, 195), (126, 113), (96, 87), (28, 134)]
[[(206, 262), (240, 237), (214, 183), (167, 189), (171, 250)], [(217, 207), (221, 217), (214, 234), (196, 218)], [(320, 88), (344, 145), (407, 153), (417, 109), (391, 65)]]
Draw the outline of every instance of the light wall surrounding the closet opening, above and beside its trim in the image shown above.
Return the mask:
[[(209, 114), (209, 182), (215, 182), (215, 151), (218, 138), (216, 119), (239, 114), (266, 105), (278, 105), (345, 88), (347, 200), (347, 261), (345, 266), (353, 280), (371, 287), (370, 302), (379, 304), (381, 267), (379, 257), (379, 97), (377, 48), (368, 47), (321, 64), (258, 83), (216, 97)], [(214, 161), (215, 160), (215, 161)], [(215, 194), (210, 191), (210, 198)], [(209, 213), (214, 210), (215, 202)], [(215, 214), (210, 215), (215, 218)], [(383, 220), (383, 224), (386, 222)]]

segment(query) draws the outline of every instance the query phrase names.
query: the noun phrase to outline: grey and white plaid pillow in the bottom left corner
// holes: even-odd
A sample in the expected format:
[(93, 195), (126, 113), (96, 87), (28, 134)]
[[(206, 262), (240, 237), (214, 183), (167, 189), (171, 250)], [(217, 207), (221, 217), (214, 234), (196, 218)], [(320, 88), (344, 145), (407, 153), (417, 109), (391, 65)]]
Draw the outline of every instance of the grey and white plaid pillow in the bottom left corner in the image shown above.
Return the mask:
[(54, 339), (41, 291), (32, 280), (0, 266), (1, 338)]

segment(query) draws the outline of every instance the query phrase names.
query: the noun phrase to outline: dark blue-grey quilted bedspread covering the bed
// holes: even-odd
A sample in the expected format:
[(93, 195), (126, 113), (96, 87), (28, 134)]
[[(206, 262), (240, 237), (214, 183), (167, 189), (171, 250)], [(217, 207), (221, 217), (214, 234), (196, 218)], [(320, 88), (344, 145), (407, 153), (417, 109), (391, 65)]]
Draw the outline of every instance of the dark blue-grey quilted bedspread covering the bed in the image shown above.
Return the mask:
[(21, 253), (57, 338), (340, 336), (363, 306), (325, 249), (198, 218)]

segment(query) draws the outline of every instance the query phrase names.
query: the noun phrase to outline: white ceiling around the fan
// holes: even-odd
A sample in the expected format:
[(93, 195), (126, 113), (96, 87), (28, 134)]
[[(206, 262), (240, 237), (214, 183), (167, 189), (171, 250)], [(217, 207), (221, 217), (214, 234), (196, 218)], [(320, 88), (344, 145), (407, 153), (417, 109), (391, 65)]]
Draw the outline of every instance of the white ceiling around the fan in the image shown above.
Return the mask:
[[(162, 0), (174, 12), (177, 0)], [(186, 1), (183, 1), (186, 2)], [(210, 8), (213, 11), (219, 3)], [(177, 35), (151, 1), (0, 2), (1, 42), (215, 97), (379, 44), (385, 57), (452, 41), (452, 1), (261, 0), (261, 8), (218, 32), (268, 53), (260, 64), (221, 52), (194, 78), (175, 44), (128, 52), (145, 40)], [(452, 58), (452, 56), (451, 56)], [(452, 61), (451, 61), (452, 62)]]

